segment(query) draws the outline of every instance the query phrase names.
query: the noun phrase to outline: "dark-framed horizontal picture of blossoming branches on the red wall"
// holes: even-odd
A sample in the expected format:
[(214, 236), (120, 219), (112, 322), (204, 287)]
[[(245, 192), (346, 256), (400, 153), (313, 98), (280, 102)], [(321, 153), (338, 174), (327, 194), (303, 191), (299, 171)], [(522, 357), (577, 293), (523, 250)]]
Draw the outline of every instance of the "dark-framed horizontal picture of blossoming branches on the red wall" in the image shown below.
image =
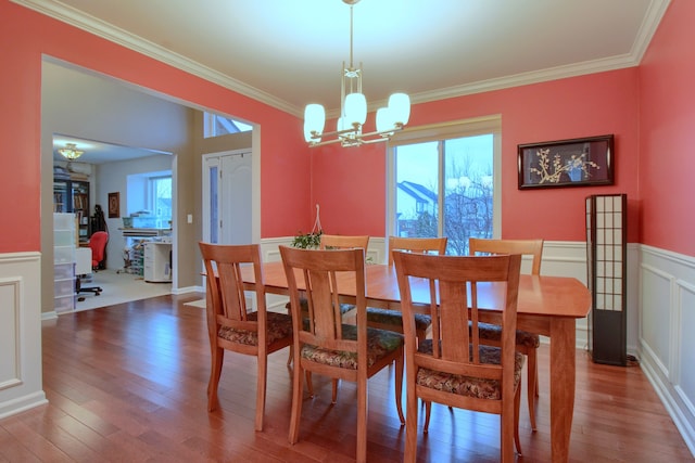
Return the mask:
[(518, 145), (519, 190), (614, 183), (612, 134)]

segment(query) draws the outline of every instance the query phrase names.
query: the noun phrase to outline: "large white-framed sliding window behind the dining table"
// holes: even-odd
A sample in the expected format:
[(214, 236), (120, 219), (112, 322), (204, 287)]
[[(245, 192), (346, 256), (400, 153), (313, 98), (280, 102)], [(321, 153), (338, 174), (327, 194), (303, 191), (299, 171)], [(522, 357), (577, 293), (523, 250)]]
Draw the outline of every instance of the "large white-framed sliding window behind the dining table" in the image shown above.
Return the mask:
[(388, 233), (447, 236), (452, 255), (467, 255), (470, 236), (497, 236), (500, 165), (497, 116), (400, 132), (389, 149)]

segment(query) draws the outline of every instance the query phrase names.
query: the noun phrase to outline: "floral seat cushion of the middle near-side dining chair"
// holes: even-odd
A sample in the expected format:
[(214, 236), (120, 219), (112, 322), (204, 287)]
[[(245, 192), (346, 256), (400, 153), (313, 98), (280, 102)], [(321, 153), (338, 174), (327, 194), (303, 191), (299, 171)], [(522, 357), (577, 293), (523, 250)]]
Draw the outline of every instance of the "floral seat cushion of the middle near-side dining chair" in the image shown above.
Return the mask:
[[(357, 339), (357, 326), (349, 324), (343, 324), (342, 326), (343, 339)], [(369, 366), (394, 350), (402, 348), (402, 334), (387, 330), (367, 329), (367, 364)], [(357, 352), (330, 350), (305, 344), (302, 346), (301, 356), (313, 362), (357, 370)]]

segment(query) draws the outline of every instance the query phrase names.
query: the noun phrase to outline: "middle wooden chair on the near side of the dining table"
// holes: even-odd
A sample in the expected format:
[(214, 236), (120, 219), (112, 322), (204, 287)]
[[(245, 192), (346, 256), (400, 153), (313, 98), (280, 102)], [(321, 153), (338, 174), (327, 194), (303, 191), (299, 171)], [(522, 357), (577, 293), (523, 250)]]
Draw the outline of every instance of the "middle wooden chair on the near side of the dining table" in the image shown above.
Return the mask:
[[(403, 335), (367, 327), (365, 250), (306, 250), (280, 246), (294, 326), (294, 371), (289, 440), (299, 440), (304, 372), (357, 384), (356, 460), (367, 456), (367, 383), (382, 369), (395, 364), (395, 402), (401, 423)], [(308, 317), (300, 309), (300, 291)], [(355, 324), (343, 323), (339, 291), (355, 295)]]

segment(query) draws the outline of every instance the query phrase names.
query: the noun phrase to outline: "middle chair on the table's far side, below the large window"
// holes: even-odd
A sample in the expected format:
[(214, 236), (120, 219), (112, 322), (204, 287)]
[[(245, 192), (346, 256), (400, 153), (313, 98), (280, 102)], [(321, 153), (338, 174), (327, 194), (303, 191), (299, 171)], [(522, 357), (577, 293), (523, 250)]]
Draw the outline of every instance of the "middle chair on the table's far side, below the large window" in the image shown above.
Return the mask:
[[(446, 236), (442, 237), (403, 237), (389, 236), (389, 265), (393, 265), (393, 252), (408, 252), (419, 254), (446, 253)], [(418, 340), (425, 340), (432, 321), (427, 314), (416, 316), (416, 331)], [(391, 330), (403, 333), (403, 319), (399, 311), (367, 307), (367, 324), (379, 330)]]

